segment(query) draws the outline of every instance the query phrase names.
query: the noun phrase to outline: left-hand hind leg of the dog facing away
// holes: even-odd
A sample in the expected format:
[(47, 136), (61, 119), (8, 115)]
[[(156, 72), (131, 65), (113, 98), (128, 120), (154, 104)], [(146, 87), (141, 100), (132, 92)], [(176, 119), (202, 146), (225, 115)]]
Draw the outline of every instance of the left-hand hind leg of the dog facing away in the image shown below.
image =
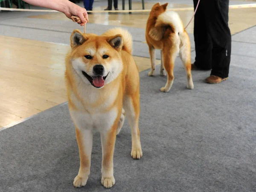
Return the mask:
[(169, 92), (169, 90), (172, 88), (174, 81), (173, 69), (178, 51), (179, 48), (176, 45), (172, 46), (168, 44), (163, 48), (163, 64), (167, 73), (167, 82), (165, 87), (160, 89), (162, 92)]

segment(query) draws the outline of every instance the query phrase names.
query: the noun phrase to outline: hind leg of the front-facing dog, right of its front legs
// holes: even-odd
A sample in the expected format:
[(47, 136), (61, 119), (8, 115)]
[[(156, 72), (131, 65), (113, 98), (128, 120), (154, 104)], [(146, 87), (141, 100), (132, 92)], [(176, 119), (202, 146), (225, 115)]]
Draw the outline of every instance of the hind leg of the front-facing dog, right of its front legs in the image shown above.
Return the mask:
[(140, 94), (139, 90), (132, 96), (124, 98), (125, 113), (131, 127), (131, 157), (140, 159), (143, 155), (140, 143), (139, 116), (140, 116)]

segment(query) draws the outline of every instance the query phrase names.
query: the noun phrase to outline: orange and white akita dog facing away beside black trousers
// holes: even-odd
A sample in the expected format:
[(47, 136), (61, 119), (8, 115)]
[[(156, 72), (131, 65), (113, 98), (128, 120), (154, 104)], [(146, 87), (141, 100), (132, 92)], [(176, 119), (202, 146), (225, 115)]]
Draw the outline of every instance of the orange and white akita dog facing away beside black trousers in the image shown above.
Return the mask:
[(156, 3), (149, 14), (146, 25), (146, 42), (148, 44), (151, 58), (151, 71), (148, 76), (154, 76), (155, 73), (155, 49), (160, 49), (161, 67), (160, 75), (167, 73), (167, 82), (165, 87), (160, 90), (169, 92), (172, 87), (174, 75), (174, 63), (177, 53), (186, 70), (187, 88), (193, 89), (194, 84), (191, 75), (191, 47), (189, 35), (183, 27), (179, 15), (176, 12), (167, 12), (168, 3), (160, 5)]

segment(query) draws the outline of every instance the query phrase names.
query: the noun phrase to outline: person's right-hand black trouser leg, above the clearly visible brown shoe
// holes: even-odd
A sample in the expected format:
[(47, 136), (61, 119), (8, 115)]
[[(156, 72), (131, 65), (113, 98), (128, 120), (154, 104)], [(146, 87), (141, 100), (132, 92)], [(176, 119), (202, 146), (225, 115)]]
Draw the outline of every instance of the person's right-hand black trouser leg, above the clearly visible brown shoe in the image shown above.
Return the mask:
[(206, 5), (208, 31), (212, 38), (211, 75), (226, 78), (229, 74), (231, 55), (231, 33), (228, 26), (229, 0), (210, 0)]

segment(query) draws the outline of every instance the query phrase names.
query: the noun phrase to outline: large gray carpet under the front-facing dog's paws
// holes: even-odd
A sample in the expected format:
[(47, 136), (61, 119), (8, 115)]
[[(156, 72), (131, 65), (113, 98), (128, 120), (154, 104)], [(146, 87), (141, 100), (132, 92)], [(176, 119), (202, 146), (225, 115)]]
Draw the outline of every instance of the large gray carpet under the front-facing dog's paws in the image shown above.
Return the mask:
[(0, 192), (255, 192), (255, 58), (232, 58), (228, 81), (205, 84), (209, 73), (195, 71), (194, 90), (185, 88), (179, 59), (169, 93), (159, 91), (166, 78), (140, 73), (144, 155), (130, 157), (125, 121), (116, 140), (112, 189), (100, 183), (99, 134), (94, 135), (87, 186), (73, 187), (79, 153), (64, 104), (0, 131)]

